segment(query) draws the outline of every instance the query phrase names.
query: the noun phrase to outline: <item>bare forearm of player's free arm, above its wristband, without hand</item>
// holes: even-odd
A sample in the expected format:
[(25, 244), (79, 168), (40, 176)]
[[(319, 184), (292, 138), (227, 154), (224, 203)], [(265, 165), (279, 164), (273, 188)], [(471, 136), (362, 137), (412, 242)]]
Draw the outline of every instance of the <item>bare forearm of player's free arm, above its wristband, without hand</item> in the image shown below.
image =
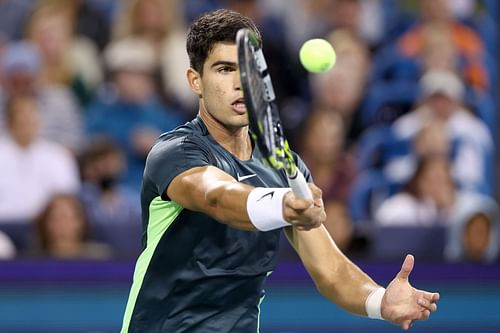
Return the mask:
[(379, 285), (339, 250), (326, 228), (288, 227), (285, 232), (320, 293), (349, 312), (366, 315), (366, 298)]

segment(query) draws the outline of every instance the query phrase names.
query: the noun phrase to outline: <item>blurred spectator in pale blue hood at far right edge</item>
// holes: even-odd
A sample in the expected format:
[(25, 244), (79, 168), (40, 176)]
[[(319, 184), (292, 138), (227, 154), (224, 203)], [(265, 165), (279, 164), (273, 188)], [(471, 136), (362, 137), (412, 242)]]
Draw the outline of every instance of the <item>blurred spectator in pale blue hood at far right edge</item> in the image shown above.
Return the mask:
[(449, 261), (494, 262), (500, 251), (497, 203), (490, 198), (464, 202), (453, 215), (445, 257)]

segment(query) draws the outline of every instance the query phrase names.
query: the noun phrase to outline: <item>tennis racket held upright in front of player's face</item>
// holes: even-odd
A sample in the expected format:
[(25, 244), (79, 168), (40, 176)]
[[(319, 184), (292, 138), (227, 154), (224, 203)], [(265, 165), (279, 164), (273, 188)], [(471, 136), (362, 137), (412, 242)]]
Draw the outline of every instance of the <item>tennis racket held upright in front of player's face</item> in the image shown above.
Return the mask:
[(236, 45), (250, 133), (265, 162), (277, 170), (285, 170), (295, 196), (312, 199), (309, 186), (297, 168), (284, 136), (271, 76), (254, 32), (240, 29), (236, 35)]

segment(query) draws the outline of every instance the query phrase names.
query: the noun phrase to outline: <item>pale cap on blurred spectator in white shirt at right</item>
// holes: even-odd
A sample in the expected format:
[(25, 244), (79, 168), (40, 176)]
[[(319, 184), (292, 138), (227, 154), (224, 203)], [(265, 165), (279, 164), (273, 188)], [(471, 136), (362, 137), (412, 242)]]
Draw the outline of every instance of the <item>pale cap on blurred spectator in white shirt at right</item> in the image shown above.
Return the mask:
[(423, 99), (435, 94), (443, 94), (454, 101), (462, 101), (464, 84), (455, 73), (447, 70), (431, 70), (420, 79)]

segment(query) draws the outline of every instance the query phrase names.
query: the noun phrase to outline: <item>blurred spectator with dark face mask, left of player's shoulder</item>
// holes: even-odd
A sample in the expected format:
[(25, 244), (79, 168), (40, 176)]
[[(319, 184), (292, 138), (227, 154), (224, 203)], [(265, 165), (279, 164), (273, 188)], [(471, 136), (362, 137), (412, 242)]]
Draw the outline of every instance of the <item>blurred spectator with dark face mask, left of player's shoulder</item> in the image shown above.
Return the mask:
[(110, 140), (96, 139), (89, 142), (80, 161), (80, 196), (90, 225), (139, 226), (139, 196), (118, 184), (127, 167), (120, 149)]

